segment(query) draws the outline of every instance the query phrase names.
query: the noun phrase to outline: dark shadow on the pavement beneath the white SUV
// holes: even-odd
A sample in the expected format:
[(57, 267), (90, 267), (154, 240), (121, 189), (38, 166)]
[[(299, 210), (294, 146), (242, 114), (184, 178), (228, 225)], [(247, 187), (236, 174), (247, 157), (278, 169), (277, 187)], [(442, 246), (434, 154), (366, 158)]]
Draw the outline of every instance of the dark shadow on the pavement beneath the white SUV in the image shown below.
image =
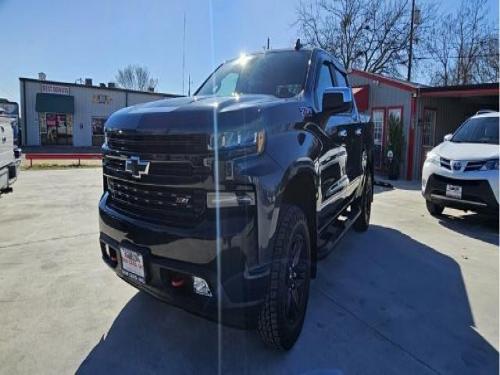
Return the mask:
[(476, 213), (448, 215), (446, 210), (449, 209), (445, 209), (438, 221), (443, 227), (498, 246), (498, 218)]

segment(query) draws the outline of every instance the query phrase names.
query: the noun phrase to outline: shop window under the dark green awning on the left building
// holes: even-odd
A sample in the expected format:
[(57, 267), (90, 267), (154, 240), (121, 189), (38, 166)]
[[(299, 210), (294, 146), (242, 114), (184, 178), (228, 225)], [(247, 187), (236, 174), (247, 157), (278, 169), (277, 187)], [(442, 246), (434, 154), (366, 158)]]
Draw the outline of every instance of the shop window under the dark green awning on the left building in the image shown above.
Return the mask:
[(40, 113), (42, 145), (73, 144), (73, 116), (69, 113)]

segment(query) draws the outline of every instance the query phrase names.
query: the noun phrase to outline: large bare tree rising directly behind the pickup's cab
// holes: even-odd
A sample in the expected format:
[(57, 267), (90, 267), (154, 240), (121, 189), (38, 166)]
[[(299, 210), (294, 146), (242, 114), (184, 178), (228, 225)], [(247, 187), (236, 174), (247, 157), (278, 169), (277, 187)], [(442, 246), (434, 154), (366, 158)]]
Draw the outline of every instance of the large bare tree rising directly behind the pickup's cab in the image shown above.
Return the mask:
[[(419, 9), (415, 40), (425, 30), (427, 9)], [(408, 0), (300, 0), (296, 14), (305, 42), (332, 52), (347, 69), (400, 76), (408, 63)]]

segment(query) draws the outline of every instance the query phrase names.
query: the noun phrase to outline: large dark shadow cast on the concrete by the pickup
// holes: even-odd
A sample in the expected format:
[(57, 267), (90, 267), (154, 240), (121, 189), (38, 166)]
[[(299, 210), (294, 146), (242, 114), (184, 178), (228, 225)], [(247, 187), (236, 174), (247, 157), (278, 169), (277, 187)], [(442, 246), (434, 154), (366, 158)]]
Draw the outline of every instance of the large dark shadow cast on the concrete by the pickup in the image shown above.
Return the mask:
[[(498, 305), (498, 303), (497, 303)], [(493, 374), (459, 265), (405, 234), (349, 233), (318, 269), (304, 330), (288, 353), (137, 293), (78, 373)]]

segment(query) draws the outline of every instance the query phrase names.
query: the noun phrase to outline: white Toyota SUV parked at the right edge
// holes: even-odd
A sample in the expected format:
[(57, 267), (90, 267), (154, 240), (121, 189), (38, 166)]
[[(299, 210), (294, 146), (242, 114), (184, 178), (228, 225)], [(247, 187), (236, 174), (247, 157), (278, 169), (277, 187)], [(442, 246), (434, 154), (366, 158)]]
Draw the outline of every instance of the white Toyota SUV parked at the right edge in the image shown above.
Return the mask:
[(472, 116), (427, 154), (422, 194), (432, 215), (445, 207), (498, 215), (499, 119)]

